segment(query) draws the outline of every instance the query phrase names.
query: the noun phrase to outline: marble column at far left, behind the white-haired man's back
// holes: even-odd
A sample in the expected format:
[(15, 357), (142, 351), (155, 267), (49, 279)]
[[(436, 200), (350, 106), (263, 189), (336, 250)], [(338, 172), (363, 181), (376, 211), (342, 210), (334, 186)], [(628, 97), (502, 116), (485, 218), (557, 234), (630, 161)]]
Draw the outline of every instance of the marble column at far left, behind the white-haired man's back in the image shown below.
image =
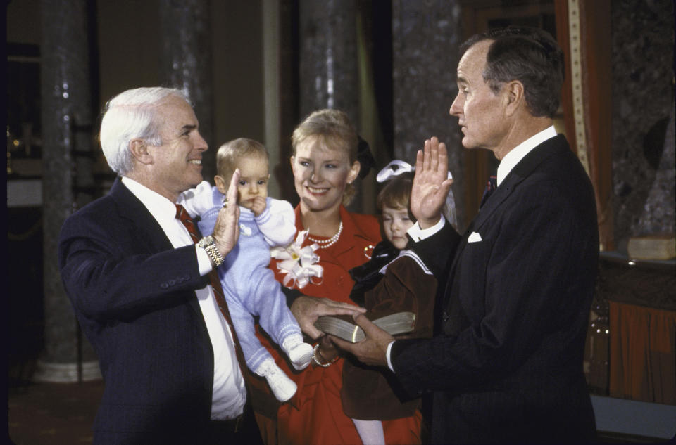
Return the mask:
[(56, 259), (63, 221), (94, 193), (87, 8), (86, 0), (41, 3), (45, 345), (33, 379), (42, 382), (101, 377), (63, 289)]

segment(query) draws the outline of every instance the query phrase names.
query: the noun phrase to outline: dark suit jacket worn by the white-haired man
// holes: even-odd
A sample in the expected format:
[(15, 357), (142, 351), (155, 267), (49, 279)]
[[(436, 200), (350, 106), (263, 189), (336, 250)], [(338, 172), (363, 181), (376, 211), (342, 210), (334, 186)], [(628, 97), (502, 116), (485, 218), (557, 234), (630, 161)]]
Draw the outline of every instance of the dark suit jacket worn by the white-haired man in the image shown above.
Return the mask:
[(65, 221), (58, 263), (106, 382), (94, 442), (200, 443), (213, 349), (194, 292), (208, 283), (194, 246), (174, 249), (118, 179)]

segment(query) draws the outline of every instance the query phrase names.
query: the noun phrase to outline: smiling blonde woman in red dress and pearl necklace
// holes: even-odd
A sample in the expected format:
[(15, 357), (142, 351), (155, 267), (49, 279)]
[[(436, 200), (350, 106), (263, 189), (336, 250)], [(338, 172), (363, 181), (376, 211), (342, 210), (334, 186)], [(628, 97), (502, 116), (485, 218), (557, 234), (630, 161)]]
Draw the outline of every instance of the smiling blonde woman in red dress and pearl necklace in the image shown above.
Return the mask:
[[(300, 198), (295, 209), (296, 228), (308, 231), (303, 245), (318, 245), (315, 253), (320, 257), (318, 264), (323, 267), (323, 276), (315, 277), (302, 288), (304, 295), (353, 303), (349, 295), (354, 282), (349, 270), (366, 262), (381, 240), (375, 216), (356, 214), (345, 208), (356, 193), (353, 181), (363, 167), (370, 168), (358, 160), (363, 159), (359, 155), (360, 146), (363, 148), (356, 130), (339, 110), (311, 113), (292, 135), (291, 167)], [(277, 270), (274, 262), (270, 266), (283, 281), (287, 274)], [(300, 320), (299, 323), (303, 328)], [(277, 364), (298, 385), (296, 395), (277, 411), (278, 442), (360, 444), (354, 423), (343, 412), (340, 397), (343, 359), (319, 331), (307, 327), (303, 330), (315, 337), (311, 366), (294, 373), (280, 355), (276, 356)], [(383, 428), (388, 444), (420, 442), (419, 413), (385, 421)]]

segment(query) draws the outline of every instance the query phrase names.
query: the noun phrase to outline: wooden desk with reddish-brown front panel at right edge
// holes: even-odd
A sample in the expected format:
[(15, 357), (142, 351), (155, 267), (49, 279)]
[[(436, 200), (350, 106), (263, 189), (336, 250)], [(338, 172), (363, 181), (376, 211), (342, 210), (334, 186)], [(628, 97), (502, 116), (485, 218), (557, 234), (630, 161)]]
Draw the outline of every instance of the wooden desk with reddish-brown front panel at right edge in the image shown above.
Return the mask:
[(676, 404), (676, 261), (603, 252), (585, 355), (590, 391)]

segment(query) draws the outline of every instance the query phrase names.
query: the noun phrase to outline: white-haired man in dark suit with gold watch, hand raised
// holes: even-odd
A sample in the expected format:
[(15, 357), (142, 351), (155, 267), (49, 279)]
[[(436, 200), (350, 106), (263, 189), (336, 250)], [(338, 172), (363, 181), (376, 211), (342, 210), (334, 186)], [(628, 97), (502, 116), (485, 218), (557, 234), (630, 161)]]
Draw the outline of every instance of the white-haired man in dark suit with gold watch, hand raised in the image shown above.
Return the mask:
[(65, 221), (58, 249), (106, 383), (94, 443), (261, 443), (237, 337), (208, 278), (237, 242), (238, 206), (221, 210), (199, 245), (177, 219), (176, 198), (202, 180), (207, 150), (187, 97), (159, 87), (120, 93), (100, 136), (120, 177)]

